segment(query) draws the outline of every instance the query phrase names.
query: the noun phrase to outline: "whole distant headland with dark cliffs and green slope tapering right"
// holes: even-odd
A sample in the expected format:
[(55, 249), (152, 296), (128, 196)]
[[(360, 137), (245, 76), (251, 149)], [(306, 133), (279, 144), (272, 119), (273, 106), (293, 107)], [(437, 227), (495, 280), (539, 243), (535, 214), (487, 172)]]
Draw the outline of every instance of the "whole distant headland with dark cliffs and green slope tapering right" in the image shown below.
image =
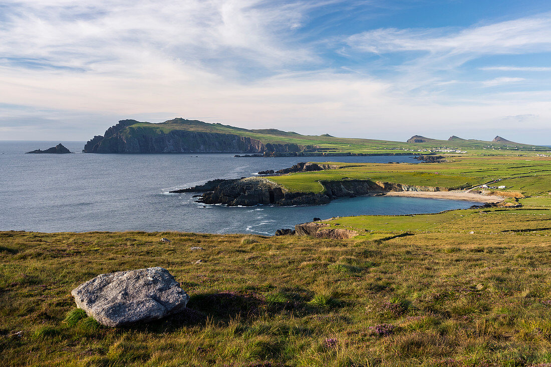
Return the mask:
[[(430, 153), (508, 154), (549, 148), (509, 142), (414, 136), (407, 142), (301, 135), (278, 129), (245, 129), (174, 118), (160, 123), (121, 120), (90, 139), (84, 153), (250, 153), (254, 156), (414, 155)], [(249, 154), (249, 156), (251, 156)]]

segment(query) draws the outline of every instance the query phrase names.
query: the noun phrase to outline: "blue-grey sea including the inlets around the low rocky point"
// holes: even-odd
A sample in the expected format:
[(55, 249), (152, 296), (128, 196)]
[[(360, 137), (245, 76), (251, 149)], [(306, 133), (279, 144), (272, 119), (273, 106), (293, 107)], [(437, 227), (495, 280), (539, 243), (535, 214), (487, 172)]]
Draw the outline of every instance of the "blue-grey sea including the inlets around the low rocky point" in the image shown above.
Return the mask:
[[(225, 207), (169, 190), (208, 180), (287, 168), (309, 158), (234, 158), (234, 154), (24, 154), (55, 142), (0, 141), (0, 230), (191, 231), (272, 235), (314, 217), (433, 213), (472, 202), (356, 197), (325, 206)], [(84, 142), (62, 142), (80, 152)], [(408, 156), (334, 157), (341, 162), (417, 163)]]

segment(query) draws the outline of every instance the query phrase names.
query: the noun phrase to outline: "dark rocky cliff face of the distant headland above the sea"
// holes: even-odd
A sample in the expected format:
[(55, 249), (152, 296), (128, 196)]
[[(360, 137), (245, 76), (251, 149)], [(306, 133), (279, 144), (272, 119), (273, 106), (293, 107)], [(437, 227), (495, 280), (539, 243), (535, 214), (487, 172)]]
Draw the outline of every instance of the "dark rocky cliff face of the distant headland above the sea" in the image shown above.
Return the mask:
[(95, 136), (85, 153), (264, 153), (300, 152), (297, 144), (263, 144), (235, 134), (130, 127), (136, 120), (122, 120), (104, 136)]

